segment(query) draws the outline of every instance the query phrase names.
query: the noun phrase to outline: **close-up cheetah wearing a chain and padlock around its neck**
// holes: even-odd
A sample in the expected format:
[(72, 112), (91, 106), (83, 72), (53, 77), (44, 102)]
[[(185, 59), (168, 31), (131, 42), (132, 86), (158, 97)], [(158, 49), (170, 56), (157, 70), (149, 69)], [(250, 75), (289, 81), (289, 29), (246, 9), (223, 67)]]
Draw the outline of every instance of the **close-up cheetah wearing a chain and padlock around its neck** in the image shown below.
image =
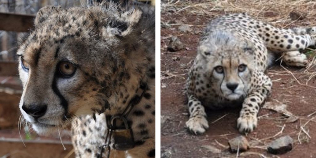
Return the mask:
[[(19, 107), (32, 128), (71, 125), (76, 157), (155, 157), (155, 9), (46, 6), (34, 25), (17, 51)], [(115, 150), (108, 132), (125, 128), (134, 146)]]

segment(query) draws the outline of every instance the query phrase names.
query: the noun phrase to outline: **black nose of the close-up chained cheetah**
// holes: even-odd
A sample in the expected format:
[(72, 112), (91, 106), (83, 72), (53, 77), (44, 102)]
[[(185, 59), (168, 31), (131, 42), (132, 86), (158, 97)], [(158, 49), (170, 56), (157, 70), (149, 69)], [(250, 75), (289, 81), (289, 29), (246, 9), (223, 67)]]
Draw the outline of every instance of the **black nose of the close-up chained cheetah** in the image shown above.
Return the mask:
[(22, 109), (34, 118), (40, 118), (45, 115), (47, 110), (47, 104), (38, 105), (38, 104), (23, 104)]

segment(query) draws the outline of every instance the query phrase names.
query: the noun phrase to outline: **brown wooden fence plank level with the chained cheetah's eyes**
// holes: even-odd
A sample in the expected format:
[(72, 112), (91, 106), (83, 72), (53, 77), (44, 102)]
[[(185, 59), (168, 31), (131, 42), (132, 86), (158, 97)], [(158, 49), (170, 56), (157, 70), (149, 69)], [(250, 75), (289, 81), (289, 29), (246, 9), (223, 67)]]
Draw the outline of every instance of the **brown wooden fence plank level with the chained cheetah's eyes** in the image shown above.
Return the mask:
[(17, 62), (0, 61), (0, 76), (15, 76), (18, 74)]

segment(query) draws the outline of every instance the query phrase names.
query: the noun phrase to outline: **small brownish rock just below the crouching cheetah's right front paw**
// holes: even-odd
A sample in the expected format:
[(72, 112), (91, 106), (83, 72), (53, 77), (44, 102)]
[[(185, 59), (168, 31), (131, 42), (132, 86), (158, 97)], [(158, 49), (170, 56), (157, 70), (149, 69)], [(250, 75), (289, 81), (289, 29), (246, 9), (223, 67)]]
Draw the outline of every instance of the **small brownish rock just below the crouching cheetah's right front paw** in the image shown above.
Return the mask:
[(234, 153), (237, 152), (238, 148), (239, 151), (246, 151), (249, 148), (249, 142), (247, 141), (246, 137), (238, 136), (228, 141), (230, 150)]

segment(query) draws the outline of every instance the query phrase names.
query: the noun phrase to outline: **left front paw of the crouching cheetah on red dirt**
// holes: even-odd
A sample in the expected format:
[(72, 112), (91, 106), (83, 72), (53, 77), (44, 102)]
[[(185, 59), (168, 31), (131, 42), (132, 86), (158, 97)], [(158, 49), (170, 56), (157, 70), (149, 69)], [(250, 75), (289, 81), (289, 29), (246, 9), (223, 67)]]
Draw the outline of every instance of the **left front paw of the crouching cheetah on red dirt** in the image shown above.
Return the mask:
[(195, 135), (202, 134), (209, 128), (209, 124), (204, 116), (191, 117), (185, 125)]

